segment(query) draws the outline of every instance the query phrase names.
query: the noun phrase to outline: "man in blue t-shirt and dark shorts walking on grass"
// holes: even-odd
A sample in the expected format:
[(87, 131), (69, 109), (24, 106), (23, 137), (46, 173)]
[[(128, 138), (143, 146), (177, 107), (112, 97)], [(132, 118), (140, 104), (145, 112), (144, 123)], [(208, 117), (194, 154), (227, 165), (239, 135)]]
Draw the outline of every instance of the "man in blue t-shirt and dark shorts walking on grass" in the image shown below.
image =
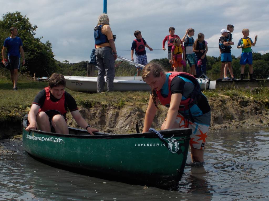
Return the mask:
[[(25, 64), (24, 51), (22, 48), (22, 40), (17, 37), (18, 31), (16, 27), (10, 28), (11, 36), (6, 38), (2, 50), (3, 64), (9, 65), (13, 90), (17, 90), (17, 81), (20, 69), (20, 54), (22, 55), (22, 65)], [(6, 50), (8, 50), (8, 59), (5, 59)]]

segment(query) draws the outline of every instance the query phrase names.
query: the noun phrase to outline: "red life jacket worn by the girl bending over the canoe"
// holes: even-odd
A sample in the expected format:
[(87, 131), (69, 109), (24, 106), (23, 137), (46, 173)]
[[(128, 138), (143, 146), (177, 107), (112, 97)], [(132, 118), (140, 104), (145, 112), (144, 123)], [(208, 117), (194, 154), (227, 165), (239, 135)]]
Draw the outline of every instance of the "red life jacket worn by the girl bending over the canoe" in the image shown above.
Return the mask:
[(192, 81), (192, 83), (196, 87), (194, 87), (194, 90), (193, 90), (190, 98), (187, 98), (186, 100), (180, 101), (180, 106), (179, 106), (178, 111), (187, 110), (190, 107), (192, 107), (194, 104), (196, 104), (197, 101), (200, 99), (200, 95), (201, 95), (200, 85), (199, 85), (198, 81), (196, 80), (196, 78), (193, 75), (190, 75), (189, 73), (185, 73), (185, 72), (167, 72), (167, 73), (172, 73), (171, 75), (169, 75), (169, 78), (168, 78), (168, 96), (166, 98), (164, 98), (161, 95), (161, 90), (157, 91), (157, 95), (158, 95), (158, 99), (159, 99), (160, 103), (166, 107), (170, 106), (171, 81), (174, 77), (179, 75), (179, 76), (185, 77), (185, 78), (189, 79), (190, 81)]

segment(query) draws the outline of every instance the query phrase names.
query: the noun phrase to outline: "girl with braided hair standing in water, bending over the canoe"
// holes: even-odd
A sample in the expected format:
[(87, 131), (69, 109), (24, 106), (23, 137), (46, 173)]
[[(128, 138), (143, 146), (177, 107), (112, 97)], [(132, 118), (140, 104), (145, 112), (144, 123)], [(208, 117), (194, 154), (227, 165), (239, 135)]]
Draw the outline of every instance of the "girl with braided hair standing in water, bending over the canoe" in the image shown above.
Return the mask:
[(207, 98), (202, 94), (196, 78), (184, 72), (165, 73), (158, 63), (152, 62), (143, 69), (142, 79), (152, 89), (143, 133), (148, 132), (160, 102), (169, 108), (161, 129), (192, 128), (192, 162), (204, 162), (211, 114)]

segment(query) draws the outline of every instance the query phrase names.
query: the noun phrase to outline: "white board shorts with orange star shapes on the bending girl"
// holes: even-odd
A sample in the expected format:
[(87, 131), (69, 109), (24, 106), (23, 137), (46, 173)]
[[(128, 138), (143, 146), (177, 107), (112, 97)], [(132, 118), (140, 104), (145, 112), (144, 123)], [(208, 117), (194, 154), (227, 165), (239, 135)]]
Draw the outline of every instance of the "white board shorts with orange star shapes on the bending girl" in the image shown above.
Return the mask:
[(208, 135), (209, 126), (207, 124), (200, 124), (185, 119), (182, 114), (178, 113), (176, 116), (176, 122), (179, 124), (179, 128), (191, 128), (192, 135), (190, 135), (190, 146), (196, 149), (204, 150), (206, 146), (206, 138)]

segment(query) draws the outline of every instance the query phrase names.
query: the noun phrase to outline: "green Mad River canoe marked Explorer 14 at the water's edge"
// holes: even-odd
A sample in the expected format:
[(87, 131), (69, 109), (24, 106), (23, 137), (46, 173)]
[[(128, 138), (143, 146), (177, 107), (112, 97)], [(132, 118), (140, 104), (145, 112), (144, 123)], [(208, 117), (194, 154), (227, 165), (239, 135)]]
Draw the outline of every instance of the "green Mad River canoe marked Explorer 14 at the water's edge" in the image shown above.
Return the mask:
[[(167, 129), (154, 132), (116, 135), (69, 127), (69, 135), (31, 130), (22, 119), (25, 150), (41, 160), (90, 170), (94, 177), (109, 175), (128, 183), (160, 188), (175, 186), (187, 159), (191, 129)], [(169, 138), (171, 138), (169, 140)], [(117, 179), (116, 179), (117, 180)]]

